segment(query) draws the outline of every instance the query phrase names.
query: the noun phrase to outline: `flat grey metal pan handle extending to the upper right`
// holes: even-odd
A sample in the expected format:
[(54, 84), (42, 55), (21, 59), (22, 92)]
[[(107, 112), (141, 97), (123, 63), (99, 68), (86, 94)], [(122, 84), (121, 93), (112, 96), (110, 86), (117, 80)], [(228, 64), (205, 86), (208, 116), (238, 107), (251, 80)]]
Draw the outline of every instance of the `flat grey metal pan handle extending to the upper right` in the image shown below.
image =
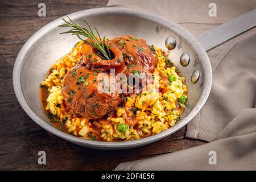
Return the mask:
[(205, 51), (209, 51), (255, 26), (256, 9), (197, 35), (196, 39), (199, 40)]

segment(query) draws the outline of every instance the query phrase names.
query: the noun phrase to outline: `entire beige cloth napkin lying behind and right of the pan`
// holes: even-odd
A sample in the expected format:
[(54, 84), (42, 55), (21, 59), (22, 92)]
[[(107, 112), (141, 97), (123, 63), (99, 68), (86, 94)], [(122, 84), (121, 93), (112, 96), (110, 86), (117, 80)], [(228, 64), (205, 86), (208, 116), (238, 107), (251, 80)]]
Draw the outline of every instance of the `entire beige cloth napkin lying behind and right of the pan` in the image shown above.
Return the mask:
[[(217, 17), (208, 15), (212, 2), (217, 5)], [(110, 0), (108, 6), (150, 11), (198, 35), (255, 9), (256, 1)], [(256, 169), (255, 50), (256, 28), (208, 52), (212, 90), (203, 109), (189, 123), (186, 137), (211, 143), (119, 164), (117, 169)], [(216, 165), (209, 165), (209, 151), (216, 151)]]

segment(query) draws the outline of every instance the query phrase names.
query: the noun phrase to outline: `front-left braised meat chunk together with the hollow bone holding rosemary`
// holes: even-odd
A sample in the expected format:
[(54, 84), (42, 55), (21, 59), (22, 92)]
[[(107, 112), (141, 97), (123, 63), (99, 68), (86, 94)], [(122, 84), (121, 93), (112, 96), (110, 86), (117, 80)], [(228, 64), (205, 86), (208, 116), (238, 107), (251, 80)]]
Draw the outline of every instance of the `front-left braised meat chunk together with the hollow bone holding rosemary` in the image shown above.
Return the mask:
[[(104, 80), (99, 78), (101, 73), (105, 73), (105, 79), (109, 80), (110, 69), (115, 69), (117, 74), (126, 68), (122, 52), (109, 40), (106, 40), (106, 45), (112, 54), (111, 60), (102, 59), (96, 48), (84, 42), (80, 63), (69, 70), (63, 79), (64, 99), (73, 111), (84, 118), (100, 119), (114, 111), (120, 102), (119, 94), (110, 85), (102, 84)], [(100, 86), (103, 88), (99, 89)]]

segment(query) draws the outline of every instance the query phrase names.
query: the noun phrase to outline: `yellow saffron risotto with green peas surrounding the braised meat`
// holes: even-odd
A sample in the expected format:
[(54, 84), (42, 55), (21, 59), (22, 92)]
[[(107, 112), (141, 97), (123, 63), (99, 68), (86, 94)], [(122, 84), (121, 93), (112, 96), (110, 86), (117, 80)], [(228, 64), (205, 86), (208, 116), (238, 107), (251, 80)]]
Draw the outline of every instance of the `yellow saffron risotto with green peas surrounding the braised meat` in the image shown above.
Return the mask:
[[(46, 93), (41, 99), (43, 109), (57, 129), (80, 138), (111, 142), (158, 134), (180, 119), (188, 99), (185, 77), (168, 60), (164, 51), (155, 46), (158, 65), (154, 75), (158, 79), (157, 85), (149, 85), (150, 89), (137, 96), (126, 97), (123, 106), (117, 108), (115, 117), (89, 120), (73, 112), (61, 90), (65, 74), (81, 59), (82, 43), (80, 41), (71, 52), (55, 61), (40, 86)], [(155, 87), (159, 88), (159, 92)], [(126, 124), (125, 132), (118, 130), (120, 123)]]

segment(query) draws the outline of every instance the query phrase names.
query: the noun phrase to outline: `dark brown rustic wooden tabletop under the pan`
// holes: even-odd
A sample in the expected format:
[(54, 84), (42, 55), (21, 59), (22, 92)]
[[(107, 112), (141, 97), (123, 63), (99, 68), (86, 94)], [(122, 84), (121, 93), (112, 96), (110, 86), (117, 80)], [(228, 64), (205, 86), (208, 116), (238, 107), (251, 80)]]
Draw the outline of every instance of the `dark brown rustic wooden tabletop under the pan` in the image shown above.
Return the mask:
[[(0, 1), (0, 169), (114, 169), (119, 163), (198, 146), (184, 139), (185, 128), (148, 146), (131, 150), (93, 150), (69, 143), (36, 125), (20, 107), (13, 90), (13, 65), (28, 38), (45, 24), (65, 14), (104, 7), (108, 0), (43, 1), (46, 17), (38, 16), (41, 1)], [(38, 164), (38, 151), (47, 164)]]

